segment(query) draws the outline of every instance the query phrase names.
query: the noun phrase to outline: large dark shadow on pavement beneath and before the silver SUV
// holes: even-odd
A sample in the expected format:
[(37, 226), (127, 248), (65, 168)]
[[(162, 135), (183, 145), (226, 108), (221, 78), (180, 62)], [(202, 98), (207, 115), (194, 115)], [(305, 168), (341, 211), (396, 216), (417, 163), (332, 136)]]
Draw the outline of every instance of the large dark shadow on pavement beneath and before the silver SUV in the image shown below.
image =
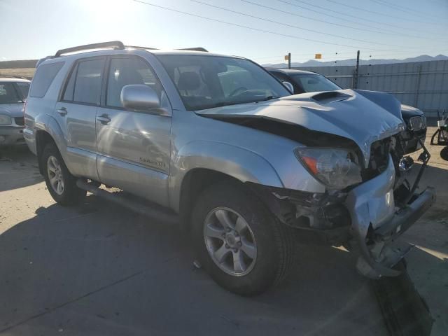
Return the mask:
[(0, 334), (386, 335), (355, 257), (297, 246), (293, 274), (239, 297), (193, 267), (176, 225), (97, 197), (52, 205), (0, 235)]

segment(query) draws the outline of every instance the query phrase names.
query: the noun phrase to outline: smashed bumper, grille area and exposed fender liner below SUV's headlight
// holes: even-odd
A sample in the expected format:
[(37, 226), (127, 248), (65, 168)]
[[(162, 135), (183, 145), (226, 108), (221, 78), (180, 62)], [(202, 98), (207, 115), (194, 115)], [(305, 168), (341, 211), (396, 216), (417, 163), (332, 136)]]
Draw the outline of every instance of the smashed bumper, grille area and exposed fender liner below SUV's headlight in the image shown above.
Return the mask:
[(400, 274), (395, 266), (412, 248), (398, 237), (435, 202), (435, 190), (417, 193), (430, 155), (423, 143), (422, 162), (409, 183), (412, 159), (403, 157), (400, 134), (376, 141), (362, 181), (349, 187), (305, 193), (253, 185), (280, 221), (300, 230), (302, 242), (345, 246), (359, 252), (356, 267), (371, 279)]

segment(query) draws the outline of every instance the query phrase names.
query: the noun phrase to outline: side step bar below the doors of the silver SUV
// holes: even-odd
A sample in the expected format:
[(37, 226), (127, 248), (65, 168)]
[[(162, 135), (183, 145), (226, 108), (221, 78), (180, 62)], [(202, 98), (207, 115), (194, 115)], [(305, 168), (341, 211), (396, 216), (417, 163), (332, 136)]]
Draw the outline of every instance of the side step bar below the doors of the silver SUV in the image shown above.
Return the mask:
[(155, 220), (169, 224), (179, 223), (179, 216), (177, 216), (176, 214), (158, 209), (158, 206), (151, 207), (151, 205), (145, 204), (145, 202), (138, 200), (137, 197), (125, 197), (116, 193), (109, 193), (109, 191), (100, 189), (93, 183), (87, 183), (82, 179), (78, 179), (78, 181), (76, 181), (76, 186), (78, 186), (78, 188), (80, 189), (88, 191), (89, 193), (92, 193), (97, 197), (101, 197), (110, 202), (119, 204), (122, 207), (126, 207), (127, 209), (130, 209), (134, 212), (137, 212), (138, 214), (142, 214), (149, 218), (153, 218)]

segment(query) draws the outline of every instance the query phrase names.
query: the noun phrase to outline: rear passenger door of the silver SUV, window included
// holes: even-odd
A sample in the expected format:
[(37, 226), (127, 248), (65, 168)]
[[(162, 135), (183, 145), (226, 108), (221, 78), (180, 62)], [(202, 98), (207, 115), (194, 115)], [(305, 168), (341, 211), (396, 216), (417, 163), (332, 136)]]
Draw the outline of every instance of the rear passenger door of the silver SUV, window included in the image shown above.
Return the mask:
[(66, 137), (66, 165), (72, 174), (98, 180), (96, 112), (106, 57), (79, 59), (71, 69), (55, 106), (55, 118)]

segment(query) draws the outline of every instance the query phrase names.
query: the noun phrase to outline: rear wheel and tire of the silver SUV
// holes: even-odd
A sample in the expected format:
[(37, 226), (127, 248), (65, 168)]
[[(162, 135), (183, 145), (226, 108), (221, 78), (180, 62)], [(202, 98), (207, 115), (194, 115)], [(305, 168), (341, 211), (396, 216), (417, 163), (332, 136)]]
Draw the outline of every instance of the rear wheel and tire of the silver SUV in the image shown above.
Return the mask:
[[(70, 174), (54, 144), (43, 148), (41, 160), (45, 183), (53, 200), (62, 205), (78, 204), (85, 197), (86, 191), (76, 186), (76, 177)], [(57, 183), (54, 183), (55, 177)]]

